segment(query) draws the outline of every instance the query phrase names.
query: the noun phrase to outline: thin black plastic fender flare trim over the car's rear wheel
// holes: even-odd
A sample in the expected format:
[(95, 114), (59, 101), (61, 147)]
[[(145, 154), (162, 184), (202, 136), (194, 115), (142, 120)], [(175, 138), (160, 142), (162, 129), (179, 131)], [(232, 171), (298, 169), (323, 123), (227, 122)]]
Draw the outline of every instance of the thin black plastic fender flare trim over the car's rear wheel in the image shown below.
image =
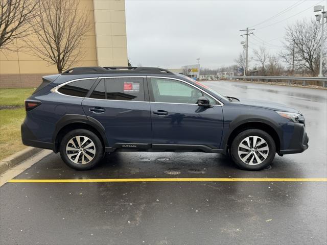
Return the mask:
[(92, 128), (95, 128), (99, 134), (101, 135), (101, 138), (104, 142), (105, 147), (108, 146), (108, 140), (106, 138), (105, 134), (105, 128), (103, 125), (98, 121), (97, 119), (86, 116), (86, 115), (80, 115), (80, 114), (66, 114), (63, 117), (60, 118), (60, 120), (57, 122), (55, 131), (52, 136), (52, 142), (54, 144), (54, 152), (56, 152), (57, 145), (56, 145), (56, 139), (58, 136), (58, 133), (60, 132), (61, 129), (63, 129), (65, 126), (69, 124), (74, 124), (74, 123), (81, 123), (81, 124), (86, 124), (91, 126)]

